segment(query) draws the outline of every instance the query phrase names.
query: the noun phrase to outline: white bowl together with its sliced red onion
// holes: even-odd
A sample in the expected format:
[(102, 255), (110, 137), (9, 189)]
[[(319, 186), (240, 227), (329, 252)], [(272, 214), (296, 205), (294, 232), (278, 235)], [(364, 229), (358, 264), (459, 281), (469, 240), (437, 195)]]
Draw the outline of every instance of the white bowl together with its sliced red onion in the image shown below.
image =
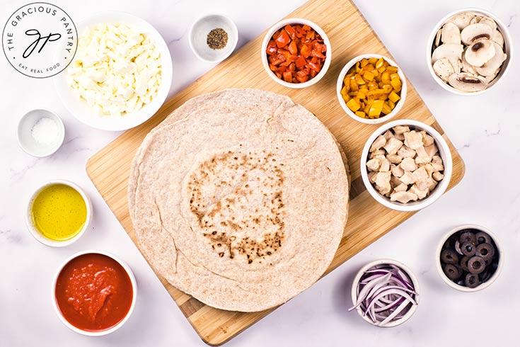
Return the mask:
[(390, 328), (408, 321), (419, 303), (417, 278), (391, 259), (363, 266), (352, 283), (352, 307), (366, 322)]

